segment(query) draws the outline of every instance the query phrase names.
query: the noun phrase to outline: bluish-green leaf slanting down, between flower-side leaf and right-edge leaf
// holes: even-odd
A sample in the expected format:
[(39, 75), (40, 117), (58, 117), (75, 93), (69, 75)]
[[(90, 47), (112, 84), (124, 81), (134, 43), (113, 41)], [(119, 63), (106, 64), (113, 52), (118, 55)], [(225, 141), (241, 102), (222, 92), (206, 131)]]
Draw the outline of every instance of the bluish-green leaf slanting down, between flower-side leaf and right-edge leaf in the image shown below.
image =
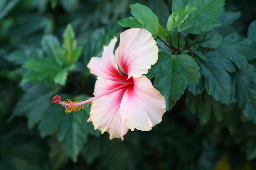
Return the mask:
[(204, 77), (204, 86), (209, 95), (212, 95), (222, 104), (230, 104), (231, 79), (229, 74), (220, 68), (216, 68), (208, 60), (198, 60), (200, 73)]

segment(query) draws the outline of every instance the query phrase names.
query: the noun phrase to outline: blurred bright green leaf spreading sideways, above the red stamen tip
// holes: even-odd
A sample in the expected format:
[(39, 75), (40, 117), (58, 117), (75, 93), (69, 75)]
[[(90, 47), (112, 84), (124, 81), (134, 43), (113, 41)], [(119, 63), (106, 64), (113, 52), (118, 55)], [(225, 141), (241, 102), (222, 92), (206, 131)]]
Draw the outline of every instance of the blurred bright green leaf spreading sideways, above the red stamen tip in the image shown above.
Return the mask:
[(63, 77), (67, 75), (65, 70), (52, 57), (48, 57), (46, 60), (29, 60), (22, 67), (28, 69), (23, 76), (22, 84), (44, 80), (47, 84), (55, 82), (64, 85), (67, 79), (67, 77)]

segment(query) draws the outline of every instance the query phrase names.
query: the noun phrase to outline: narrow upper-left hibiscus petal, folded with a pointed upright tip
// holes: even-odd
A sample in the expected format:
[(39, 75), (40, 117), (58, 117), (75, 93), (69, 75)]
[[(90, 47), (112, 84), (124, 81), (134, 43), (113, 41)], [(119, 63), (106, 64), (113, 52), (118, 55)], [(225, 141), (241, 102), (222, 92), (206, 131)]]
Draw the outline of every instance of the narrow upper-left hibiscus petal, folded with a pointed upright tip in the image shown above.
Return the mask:
[(117, 38), (114, 38), (108, 46), (103, 46), (104, 51), (102, 53), (102, 57), (91, 58), (87, 65), (91, 74), (117, 82), (127, 79), (126, 76), (119, 73), (117, 64), (114, 61), (113, 50), (116, 42)]

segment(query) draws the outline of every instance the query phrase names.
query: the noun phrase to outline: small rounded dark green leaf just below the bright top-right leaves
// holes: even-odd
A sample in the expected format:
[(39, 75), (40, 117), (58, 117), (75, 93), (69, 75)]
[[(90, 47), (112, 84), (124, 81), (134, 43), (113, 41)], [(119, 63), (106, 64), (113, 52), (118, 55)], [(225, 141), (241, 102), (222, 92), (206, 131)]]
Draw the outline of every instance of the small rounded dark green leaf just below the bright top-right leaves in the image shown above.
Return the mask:
[(204, 48), (217, 48), (222, 43), (222, 35), (216, 31), (210, 31), (198, 36), (193, 41), (193, 44), (200, 44)]

